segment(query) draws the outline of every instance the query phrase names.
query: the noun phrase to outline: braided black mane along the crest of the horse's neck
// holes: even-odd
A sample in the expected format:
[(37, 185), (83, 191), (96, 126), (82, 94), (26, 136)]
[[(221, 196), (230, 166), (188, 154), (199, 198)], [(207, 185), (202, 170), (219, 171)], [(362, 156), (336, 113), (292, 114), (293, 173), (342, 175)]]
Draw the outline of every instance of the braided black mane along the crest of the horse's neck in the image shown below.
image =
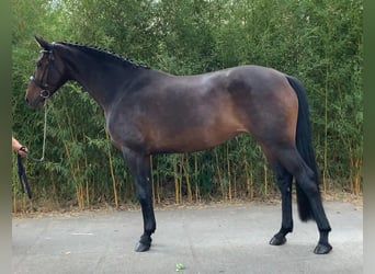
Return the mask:
[(77, 47), (77, 48), (79, 48), (79, 49), (81, 49), (83, 52), (87, 52), (87, 53), (104, 55), (106, 57), (116, 59), (116, 60), (123, 62), (124, 65), (130, 65), (130, 66), (137, 67), (137, 68), (149, 69), (149, 67), (144, 65), (144, 64), (137, 64), (137, 62), (135, 62), (134, 60), (132, 60), (132, 59), (129, 59), (127, 57), (123, 57), (122, 55), (118, 55), (118, 54), (113, 53), (111, 50), (107, 50), (105, 48), (100, 48), (100, 47), (90, 46), (90, 45), (82, 45), (82, 44), (79, 44), (79, 43), (68, 43), (68, 42), (58, 42), (57, 44), (61, 44), (61, 45), (65, 45), (65, 46)]

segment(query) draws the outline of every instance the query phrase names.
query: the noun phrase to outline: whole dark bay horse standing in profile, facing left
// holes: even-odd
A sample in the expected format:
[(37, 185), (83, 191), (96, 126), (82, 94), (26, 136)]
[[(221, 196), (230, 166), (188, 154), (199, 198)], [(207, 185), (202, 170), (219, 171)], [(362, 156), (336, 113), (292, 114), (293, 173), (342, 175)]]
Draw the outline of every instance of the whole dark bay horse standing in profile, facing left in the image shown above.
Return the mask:
[(314, 252), (325, 254), (332, 249), (307, 99), (297, 79), (260, 66), (173, 76), (103, 49), (35, 38), (42, 50), (25, 100), (42, 106), (72, 80), (102, 106), (111, 139), (129, 165), (141, 205), (144, 233), (136, 251), (150, 248), (156, 230), (150, 156), (209, 149), (240, 133), (252, 134), (259, 141), (282, 193), (282, 225), (270, 243), (284, 244), (293, 230), (295, 178), (299, 217), (314, 219), (318, 226)]

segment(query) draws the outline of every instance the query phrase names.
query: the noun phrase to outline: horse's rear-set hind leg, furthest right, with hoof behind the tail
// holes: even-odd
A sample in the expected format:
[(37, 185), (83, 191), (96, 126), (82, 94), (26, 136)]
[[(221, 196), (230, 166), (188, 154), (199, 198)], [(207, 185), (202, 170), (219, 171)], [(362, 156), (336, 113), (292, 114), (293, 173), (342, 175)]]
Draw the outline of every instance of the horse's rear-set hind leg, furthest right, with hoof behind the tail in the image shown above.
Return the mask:
[(295, 148), (280, 149), (277, 151), (277, 159), (281, 164), (283, 164), (283, 167), (285, 167), (285, 169), (295, 176), (297, 185), (307, 197), (305, 201), (304, 196), (298, 196), (297, 192), (297, 199), (299, 199), (298, 206), (300, 206), (302, 203), (305, 203), (304, 209), (310, 210), (317, 222), (319, 229), (319, 242), (314, 252), (316, 254), (326, 254), (330, 252), (332, 247), (328, 242), (328, 233), (331, 231), (331, 227), (326, 217), (314, 172), (307, 167)]

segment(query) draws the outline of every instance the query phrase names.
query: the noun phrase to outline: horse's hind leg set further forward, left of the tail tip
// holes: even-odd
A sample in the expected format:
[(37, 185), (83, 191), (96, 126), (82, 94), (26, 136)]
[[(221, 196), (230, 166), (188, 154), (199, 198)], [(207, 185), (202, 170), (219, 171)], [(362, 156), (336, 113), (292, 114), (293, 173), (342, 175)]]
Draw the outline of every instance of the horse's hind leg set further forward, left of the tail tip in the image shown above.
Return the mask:
[(282, 226), (279, 232), (271, 239), (270, 244), (281, 246), (286, 242), (285, 236), (293, 231), (292, 217), (292, 181), (293, 176), (280, 163), (274, 164), (277, 185), (282, 194)]

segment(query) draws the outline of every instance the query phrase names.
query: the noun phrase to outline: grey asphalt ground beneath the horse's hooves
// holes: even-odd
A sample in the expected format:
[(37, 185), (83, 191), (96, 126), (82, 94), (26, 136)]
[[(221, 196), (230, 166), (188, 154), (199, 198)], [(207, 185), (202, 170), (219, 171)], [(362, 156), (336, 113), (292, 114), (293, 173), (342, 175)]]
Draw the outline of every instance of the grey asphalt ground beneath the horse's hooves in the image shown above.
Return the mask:
[[(333, 250), (312, 250), (318, 230), (294, 207), (294, 232), (268, 242), (281, 224), (280, 205), (216, 205), (156, 209), (150, 251), (134, 252), (143, 231), (138, 210), (52, 214), (12, 220), (13, 273), (245, 274), (363, 273), (363, 210), (326, 202)], [(179, 270), (179, 272), (177, 271)]]

